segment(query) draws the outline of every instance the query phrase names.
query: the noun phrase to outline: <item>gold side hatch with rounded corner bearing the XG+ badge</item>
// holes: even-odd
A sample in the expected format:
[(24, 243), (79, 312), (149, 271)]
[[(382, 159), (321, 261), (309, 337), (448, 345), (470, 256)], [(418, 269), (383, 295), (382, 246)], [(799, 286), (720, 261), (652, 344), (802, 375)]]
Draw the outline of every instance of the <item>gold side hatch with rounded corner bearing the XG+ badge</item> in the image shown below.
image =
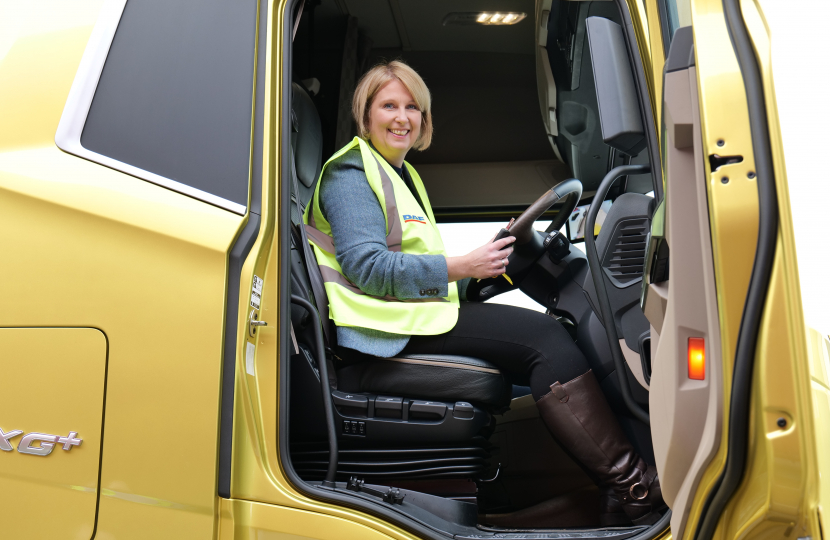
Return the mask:
[[(9, 440), (17, 451), (6, 449), (0, 460), (0, 508), (16, 516), (4, 520), (3, 534), (90, 538), (107, 339), (94, 328), (2, 328), (0, 358), (0, 428), (23, 432)], [(81, 442), (68, 450), (54, 444), (47, 455), (20, 453), (27, 433), (66, 437), (71, 431)]]

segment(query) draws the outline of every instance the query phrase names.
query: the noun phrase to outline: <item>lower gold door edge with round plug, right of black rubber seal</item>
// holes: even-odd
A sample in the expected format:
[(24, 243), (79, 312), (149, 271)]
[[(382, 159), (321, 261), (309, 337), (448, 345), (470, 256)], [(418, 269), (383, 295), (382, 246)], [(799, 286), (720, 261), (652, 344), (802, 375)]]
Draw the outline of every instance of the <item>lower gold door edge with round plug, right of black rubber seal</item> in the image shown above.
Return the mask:
[(816, 530), (810, 523), (816, 471), (805, 444), (811, 431), (810, 385), (793, 361), (804, 345), (803, 324), (800, 313), (791, 311), (787, 289), (793, 276), (782, 244), (779, 240), (753, 374), (749, 460), (744, 482), (724, 512), (721, 538), (786, 537), (793, 531), (803, 537)]

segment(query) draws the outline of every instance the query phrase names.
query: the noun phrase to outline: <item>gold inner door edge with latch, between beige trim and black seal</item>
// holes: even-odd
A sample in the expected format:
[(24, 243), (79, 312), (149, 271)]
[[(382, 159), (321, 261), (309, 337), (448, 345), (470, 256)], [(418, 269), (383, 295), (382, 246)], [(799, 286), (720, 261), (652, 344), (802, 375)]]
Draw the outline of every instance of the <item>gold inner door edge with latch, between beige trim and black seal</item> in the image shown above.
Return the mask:
[[(733, 362), (758, 237), (758, 189), (749, 175), (755, 170), (749, 111), (741, 69), (734, 55), (723, 16), (723, 4), (719, 0), (695, 1), (691, 3), (691, 12), (696, 80), (691, 79), (690, 84), (697, 87), (702, 148), (701, 155), (696, 158), (699, 161), (695, 166), (704, 167), (703, 177), (698, 178), (697, 181), (702, 181), (706, 189), (720, 329), (719, 350), (712, 349), (710, 339), (706, 344), (705, 352), (709, 358), (723, 359), (719, 368), (707, 366), (706, 380), (711, 381), (711, 377), (718, 376), (722, 378), (719, 393), (723, 406), (718, 414), (722, 419), (721, 444), (716, 446), (714, 455), (708, 462), (700, 464), (703, 470), (695, 467), (690, 471), (693, 474), (700, 474), (699, 479), (687, 477), (684, 480), (684, 482), (695, 484), (694, 490), (689, 493), (688, 500), (685, 501), (688, 513), (684, 509), (679, 510), (679, 513), (682, 512), (687, 518), (682, 516), (676, 518), (680, 522), (678, 527), (682, 527), (675, 534), (684, 538), (691, 538), (695, 535), (700, 517), (704, 509), (708, 507), (709, 496), (718, 485), (726, 462), (727, 445), (724, 443), (729, 434), (729, 424), (726, 420), (731, 395)], [(676, 44), (677, 39), (673, 40), (672, 48)], [(686, 56), (683, 59), (684, 56), (686, 55), (680, 55), (680, 59), (687, 62), (687, 65), (691, 63), (689, 57)], [(672, 71), (671, 64), (672, 53), (670, 51), (666, 71)], [(666, 86), (668, 84), (667, 79)], [(666, 102), (669, 100), (667, 92), (668, 89), (664, 88)], [(663, 118), (668, 122), (669, 114), (665, 111)], [(664, 141), (667, 151), (670, 147), (668, 138), (669, 135)], [(715, 154), (741, 156), (741, 160), (712, 167), (709, 164), (709, 156)], [(669, 176), (670, 174), (667, 174), (667, 185), (672, 183)], [(677, 343), (677, 347), (683, 347), (680, 350), (684, 350), (688, 348), (688, 344)], [(658, 362), (659, 359), (655, 358), (654, 361)], [(686, 354), (676, 357), (675, 361), (682, 363), (681, 366), (676, 365), (675, 369), (683, 373), (682, 365), (688, 362)], [(710, 421), (712, 420), (707, 420), (707, 422)], [(685, 523), (683, 519), (686, 519)]]

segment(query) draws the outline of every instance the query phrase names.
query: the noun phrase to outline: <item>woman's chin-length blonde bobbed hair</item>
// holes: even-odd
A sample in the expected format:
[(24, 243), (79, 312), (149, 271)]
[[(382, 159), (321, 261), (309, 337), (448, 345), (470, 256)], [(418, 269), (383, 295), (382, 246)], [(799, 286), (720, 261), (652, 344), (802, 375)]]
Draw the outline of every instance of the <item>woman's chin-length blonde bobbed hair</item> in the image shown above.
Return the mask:
[(421, 132), (412, 147), (415, 150), (426, 150), (432, 142), (432, 97), (421, 76), (398, 60), (376, 65), (357, 83), (352, 99), (352, 116), (357, 124), (357, 134), (361, 139), (369, 137), (369, 110), (372, 101), (381, 88), (395, 79), (409, 90), (421, 111)]

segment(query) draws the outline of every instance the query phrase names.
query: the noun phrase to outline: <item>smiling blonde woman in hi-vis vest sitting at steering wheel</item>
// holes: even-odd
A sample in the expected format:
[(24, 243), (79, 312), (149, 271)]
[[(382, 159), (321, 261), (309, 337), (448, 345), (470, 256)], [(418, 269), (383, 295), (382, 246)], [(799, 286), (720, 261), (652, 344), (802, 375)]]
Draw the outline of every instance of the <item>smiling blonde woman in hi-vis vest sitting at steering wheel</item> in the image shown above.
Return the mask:
[(359, 137), (326, 163), (305, 215), (344, 356), (459, 354), (526, 376), (560, 444), (613, 489), (629, 518), (656, 520), (656, 470), (625, 438), (565, 329), (535, 311), (459, 302), (470, 278), (504, 272), (515, 238), (445, 255), (423, 183), (404, 162), (432, 139), (424, 81), (401, 62), (375, 66), (352, 113)]

